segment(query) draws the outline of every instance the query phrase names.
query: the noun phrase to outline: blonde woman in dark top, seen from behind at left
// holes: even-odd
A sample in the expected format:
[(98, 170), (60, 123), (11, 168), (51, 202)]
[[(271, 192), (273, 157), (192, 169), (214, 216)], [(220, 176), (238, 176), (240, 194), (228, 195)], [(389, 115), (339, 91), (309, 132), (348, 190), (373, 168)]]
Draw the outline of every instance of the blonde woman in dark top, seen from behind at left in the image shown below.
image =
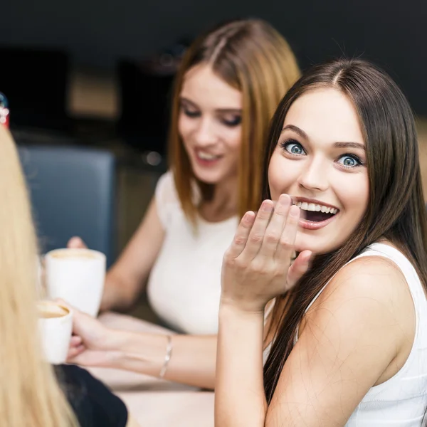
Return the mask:
[(2, 125), (0, 151), (1, 426), (136, 427), (122, 401), (87, 371), (53, 370), (43, 360), (36, 233), (14, 140)]

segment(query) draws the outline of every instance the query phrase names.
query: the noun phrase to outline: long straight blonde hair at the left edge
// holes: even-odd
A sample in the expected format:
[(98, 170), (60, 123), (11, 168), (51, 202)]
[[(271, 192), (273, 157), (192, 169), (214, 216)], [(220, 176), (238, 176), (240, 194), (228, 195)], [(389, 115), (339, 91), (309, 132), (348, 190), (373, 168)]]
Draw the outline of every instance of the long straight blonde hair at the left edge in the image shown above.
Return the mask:
[(7, 427), (78, 423), (37, 330), (37, 241), (25, 179), (9, 131), (0, 126), (0, 420)]

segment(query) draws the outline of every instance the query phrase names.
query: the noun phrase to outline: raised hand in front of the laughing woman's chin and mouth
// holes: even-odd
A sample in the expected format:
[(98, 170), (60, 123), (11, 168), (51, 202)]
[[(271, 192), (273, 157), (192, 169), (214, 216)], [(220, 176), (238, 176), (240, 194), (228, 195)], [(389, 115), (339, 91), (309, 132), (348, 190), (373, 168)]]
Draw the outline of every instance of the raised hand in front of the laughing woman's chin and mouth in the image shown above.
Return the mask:
[(265, 200), (257, 216), (247, 212), (224, 255), (221, 303), (262, 311), (268, 301), (292, 288), (309, 268), (310, 251), (294, 254), (300, 209), (282, 194), (274, 207)]

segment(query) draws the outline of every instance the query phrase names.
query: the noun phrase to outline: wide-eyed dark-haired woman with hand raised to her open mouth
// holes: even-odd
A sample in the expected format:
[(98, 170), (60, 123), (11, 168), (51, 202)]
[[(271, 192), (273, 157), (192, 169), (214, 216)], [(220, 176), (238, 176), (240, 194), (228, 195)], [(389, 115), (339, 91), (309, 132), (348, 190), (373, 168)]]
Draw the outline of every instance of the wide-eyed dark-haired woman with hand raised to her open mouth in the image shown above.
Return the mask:
[(313, 68), (275, 113), (264, 172), (224, 257), (216, 426), (421, 426), (427, 218), (401, 90), (363, 60)]

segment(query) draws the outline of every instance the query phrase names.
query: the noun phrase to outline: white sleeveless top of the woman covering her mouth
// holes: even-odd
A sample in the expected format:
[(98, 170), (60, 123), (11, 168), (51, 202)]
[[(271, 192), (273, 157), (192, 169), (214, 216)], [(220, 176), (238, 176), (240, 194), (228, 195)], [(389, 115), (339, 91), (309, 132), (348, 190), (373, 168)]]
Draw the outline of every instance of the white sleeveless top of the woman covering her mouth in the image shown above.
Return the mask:
[[(391, 379), (371, 387), (346, 427), (421, 427), (427, 408), (427, 299), (416, 270), (403, 253), (384, 243), (374, 243), (350, 263), (363, 256), (382, 256), (393, 261), (404, 274), (416, 315), (416, 332), (411, 353)], [(325, 287), (310, 302), (307, 310)], [(294, 345), (297, 342), (295, 334)], [(264, 357), (270, 346), (265, 349)]]

